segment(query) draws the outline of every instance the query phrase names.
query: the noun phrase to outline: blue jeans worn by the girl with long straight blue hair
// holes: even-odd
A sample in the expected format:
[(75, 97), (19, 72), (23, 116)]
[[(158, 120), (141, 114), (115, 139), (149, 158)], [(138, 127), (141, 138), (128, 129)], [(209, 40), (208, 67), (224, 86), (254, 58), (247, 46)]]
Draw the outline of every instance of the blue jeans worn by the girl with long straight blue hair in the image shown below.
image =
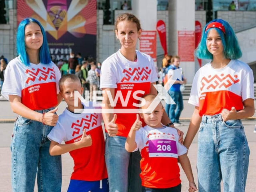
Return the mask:
[(61, 156), (49, 153), (51, 130), (52, 126), (22, 116), (16, 120), (11, 142), (13, 192), (34, 192), (36, 175), (38, 192), (61, 191)]

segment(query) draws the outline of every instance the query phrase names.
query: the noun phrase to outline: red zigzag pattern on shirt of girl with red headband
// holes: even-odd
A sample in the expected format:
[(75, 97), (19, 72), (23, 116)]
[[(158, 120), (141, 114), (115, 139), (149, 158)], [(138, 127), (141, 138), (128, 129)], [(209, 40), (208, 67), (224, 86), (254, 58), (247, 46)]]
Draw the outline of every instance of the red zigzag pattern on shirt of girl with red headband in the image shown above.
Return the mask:
[(240, 79), (237, 79), (238, 75), (234, 75), (233, 78), (230, 74), (224, 76), (224, 74), (222, 73), (220, 74), (220, 76), (216, 74), (213, 77), (211, 75), (209, 75), (208, 78), (203, 77), (201, 80), (200, 92), (204, 89), (205, 86), (207, 86), (207, 90), (209, 90), (210, 88), (213, 88), (215, 90), (216, 88), (222, 88), (222, 86), (228, 88), (240, 81)]

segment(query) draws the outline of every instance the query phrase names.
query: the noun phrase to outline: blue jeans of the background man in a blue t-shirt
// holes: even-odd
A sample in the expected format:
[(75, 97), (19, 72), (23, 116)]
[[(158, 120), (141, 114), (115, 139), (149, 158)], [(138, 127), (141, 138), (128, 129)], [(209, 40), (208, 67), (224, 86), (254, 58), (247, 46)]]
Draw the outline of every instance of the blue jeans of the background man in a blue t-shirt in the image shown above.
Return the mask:
[[(180, 122), (180, 114), (183, 110), (183, 98), (180, 91), (168, 91), (176, 105), (170, 105), (169, 118), (172, 122)], [(177, 108), (177, 109), (176, 109)], [(176, 110), (176, 112), (175, 112)]]

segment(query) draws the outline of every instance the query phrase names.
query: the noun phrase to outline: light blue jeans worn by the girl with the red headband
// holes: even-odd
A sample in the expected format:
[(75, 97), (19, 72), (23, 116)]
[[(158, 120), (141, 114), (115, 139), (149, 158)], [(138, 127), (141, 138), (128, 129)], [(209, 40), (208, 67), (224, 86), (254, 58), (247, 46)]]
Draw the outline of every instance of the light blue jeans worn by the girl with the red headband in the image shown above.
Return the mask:
[(250, 150), (241, 120), (203, 116), (198, 133), (198, 190), (244, 192)]

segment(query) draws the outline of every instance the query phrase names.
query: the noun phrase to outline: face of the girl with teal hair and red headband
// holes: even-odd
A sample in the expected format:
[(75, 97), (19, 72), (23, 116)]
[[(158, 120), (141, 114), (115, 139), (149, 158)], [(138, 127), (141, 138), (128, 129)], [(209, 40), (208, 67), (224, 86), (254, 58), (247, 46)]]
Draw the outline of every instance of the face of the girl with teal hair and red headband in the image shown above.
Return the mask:
[(224, 47), (222, 45), (222, 39), (215, 29), (208, 32), (206, 46), (208, 51), (214, 56), (223, 54)]

